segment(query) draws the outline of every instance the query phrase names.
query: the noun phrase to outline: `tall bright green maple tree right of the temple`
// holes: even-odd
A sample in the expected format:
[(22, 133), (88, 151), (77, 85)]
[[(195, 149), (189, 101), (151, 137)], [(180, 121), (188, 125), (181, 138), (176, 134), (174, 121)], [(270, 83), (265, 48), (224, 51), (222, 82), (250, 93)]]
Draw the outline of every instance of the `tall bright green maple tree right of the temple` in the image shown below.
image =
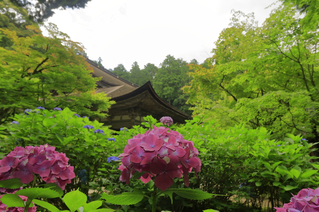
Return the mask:
[(196, 105), (194, 114), (209, 115), (222, 127), (244, 122), (317, 142), (316, 29), (302, 24), (289, 4), (274, 9), (261, 27), (253, 14), (234, 12), (208, 65), (190, 65), (194, 79), (184, 91)]

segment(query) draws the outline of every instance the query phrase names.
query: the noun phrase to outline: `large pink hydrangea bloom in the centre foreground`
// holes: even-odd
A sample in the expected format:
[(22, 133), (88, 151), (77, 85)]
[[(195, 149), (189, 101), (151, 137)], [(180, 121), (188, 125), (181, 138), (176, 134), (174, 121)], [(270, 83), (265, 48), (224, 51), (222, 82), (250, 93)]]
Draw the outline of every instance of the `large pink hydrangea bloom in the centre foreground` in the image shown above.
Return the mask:
[(129, 184), (131, 174), (145, 172), (140, 179), (147, 183), (155, 176), (154, 183), (162, 191), (173, 184), (173, 178), (184, 175), (186, 186), (189, 186), (188, 173), (194, 169), (196, 177), (200, 171), (201, 161), (193, 142), (165, 127), (153, 126), (152, 131), (138, 134), (128, 140), (124, 153), (120, 154), (122, 164), (121, 180)]

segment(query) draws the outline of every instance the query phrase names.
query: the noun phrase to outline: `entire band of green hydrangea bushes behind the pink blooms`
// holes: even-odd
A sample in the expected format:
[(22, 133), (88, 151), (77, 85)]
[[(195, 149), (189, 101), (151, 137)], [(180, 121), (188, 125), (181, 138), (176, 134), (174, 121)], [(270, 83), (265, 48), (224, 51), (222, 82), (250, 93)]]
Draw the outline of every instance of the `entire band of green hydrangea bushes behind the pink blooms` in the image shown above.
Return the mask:
[[(79, 187), (93, 201), (98, 200), (102, 192), (121, 194), (131, 192), (133, 188), (152, 191), (152, 180), (147, 184), (139, 180), (131, 181), (130, 185), (120, 182), (121, 172), (117, 169), (120, 165), (117, 156), (123, 152), (128, 139), (145, 133), (152, 124), (162, 125), (151, 116), (144, 118), (144, 128), (134, 126), (115, 132), (102, 127), (96, 120), (78, 117), (68, 108), (63, 111), (34, 109), (26, 113), (16, 115), (11, 124), (0, 126), (2, 157), (15, 146), (48, 143), (65, 153), (75, 167), (77, 177), (67, 185), (66, 192)], [(190, 188), (227, 196), (216, 196), (209, 201), (173, 196), (171, 204), (168, 196), (161, 195), (159, 211), (262, 211), (264, 208), (271, 211), (271, 207), (281, 207), (282, 202), (289, 202), (290, 192), (316, 188), (319, 184), (319, 164), (310, 156), (315, 150), (314, 144), (308, 144), (300, 135), (287, 134), (284, 140), (271, 140), (271, 133), (265, 128), (247, 129), (238, 125), (220, 129), (215, 121), (203, 123), (198, 117), (185, 125), (171, 125), (170, 128), (192, 140), (199, 149), (202, 170), (198, 180), (189, 174)], [(96, 131), (98, 129), (103, 133)], [(176, 179), (173, 186), (183, 188), (184, 182)], [(55, 201), (58, 207), (62, 206), (59, 200)], [(108, 204), (104, 207), (137, 212), (147, 211), (151, 204), (151, 200), (145, 199), (130, 207)]]

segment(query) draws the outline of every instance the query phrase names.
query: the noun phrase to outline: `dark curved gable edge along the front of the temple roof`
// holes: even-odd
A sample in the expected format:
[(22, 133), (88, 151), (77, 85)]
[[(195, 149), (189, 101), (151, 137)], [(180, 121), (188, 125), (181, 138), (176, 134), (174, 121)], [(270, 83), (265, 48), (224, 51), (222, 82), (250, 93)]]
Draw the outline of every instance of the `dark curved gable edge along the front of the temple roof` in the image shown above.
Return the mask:
[(114, 100), (115, 102), (118, 101), (123, 101), (126, 99), (130, 99), (134, 96), (137, 96), (138, 94), (144, 92), (144, 91), (149, 91), (150, 94), (153, 96), (153, 98), (162, 106), (166, 107), (167, 109), (172, 110), (175, 113), (179, 113), (180, 115), (183, 115), (185, 117), (187, 117), (188, 119), (192, 119), (192, 117), (189, 114), (186, 114), (180, 110), (178, 110), (177, 108), (175, 108), (174, 106), (171, 106), (170, 104), (166, 103), (164, 100), (162, 100), (161, 98), (159, 98), (159, 96), (157, 95), (157, 93), (155, 92), (151, 81), (147, 81), (144, 85), (140, 86), (139, 88), (135, 89), (134, 91), (124, 94), (122, 96), (118, 96), (118, 97), (114, 97), (110, 100)]

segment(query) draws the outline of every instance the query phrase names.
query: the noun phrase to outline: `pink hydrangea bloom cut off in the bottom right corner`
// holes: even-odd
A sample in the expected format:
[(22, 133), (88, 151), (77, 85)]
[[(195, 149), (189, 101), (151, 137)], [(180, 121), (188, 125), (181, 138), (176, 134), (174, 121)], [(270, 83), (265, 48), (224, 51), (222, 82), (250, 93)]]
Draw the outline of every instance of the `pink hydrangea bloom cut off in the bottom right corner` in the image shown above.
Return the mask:
[(276, 212), (318, 212), (319, 211), (319, 188), (304, 188), (297, 195), (293, 195), (290, 202), (285, 203)]

